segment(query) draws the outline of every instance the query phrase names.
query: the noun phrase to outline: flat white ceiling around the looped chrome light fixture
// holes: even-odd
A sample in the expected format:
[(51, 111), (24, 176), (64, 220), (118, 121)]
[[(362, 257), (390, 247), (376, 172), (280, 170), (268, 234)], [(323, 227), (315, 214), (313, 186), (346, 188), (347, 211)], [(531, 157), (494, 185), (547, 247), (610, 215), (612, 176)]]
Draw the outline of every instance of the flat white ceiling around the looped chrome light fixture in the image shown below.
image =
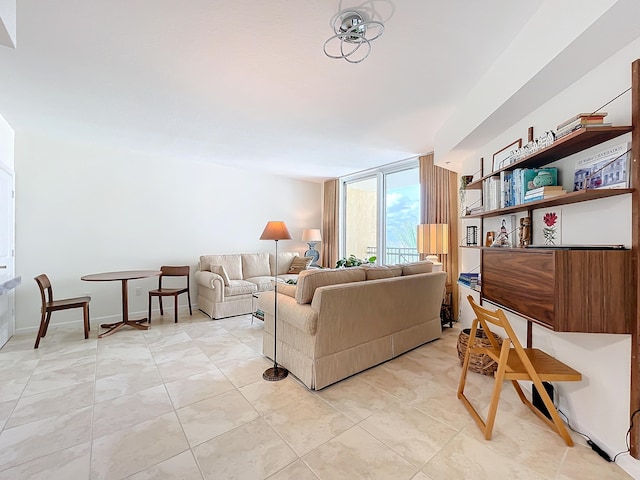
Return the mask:
[[(543, 0), (19, 0), (0, 114), (19, 134), (323, 180), (430, 152)], [(327, 58), (359, 6), (385, 33)]]

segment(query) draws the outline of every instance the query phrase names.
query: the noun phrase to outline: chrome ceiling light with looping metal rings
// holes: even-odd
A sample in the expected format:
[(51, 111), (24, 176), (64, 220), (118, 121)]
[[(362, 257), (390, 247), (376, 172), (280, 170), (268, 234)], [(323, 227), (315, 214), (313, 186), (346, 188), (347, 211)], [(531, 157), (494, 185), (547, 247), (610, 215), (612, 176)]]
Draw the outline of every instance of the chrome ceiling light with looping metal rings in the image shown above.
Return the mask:
[(382, 22), (365, 20), (355, 10), (338, 13), (332, 19), (332, 26), (335, 35), (324, 42), (324, 53), (329, 58), (343, 58), (349, 63), (360, 63), (367, 58), (371, 53), (371, 42), (384, 33)]

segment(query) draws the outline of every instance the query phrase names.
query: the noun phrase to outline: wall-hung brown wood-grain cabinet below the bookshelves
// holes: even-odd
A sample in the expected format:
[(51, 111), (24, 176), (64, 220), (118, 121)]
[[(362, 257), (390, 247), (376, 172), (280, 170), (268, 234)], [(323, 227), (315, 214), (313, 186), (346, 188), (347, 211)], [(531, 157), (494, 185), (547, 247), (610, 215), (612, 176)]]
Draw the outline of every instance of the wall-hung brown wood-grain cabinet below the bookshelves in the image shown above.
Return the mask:
[(630, 250), (484, 248), (482, 297), (558, 332), (631, 333)]

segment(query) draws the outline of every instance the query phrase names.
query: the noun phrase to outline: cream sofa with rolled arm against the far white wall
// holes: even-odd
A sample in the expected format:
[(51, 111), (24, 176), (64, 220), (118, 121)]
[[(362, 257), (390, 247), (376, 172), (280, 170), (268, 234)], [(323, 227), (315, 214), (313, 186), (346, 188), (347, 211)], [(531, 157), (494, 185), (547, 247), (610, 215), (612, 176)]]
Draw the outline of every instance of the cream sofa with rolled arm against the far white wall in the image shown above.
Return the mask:
[[(289, 271), (298, 272), (309, 262), (296, 252), (279, 253), (278, 281), (297, 279), (298, 274)], [(270, 253), (202, 255), (194, 275), (198, 308), (213, 319), (251, 313), (253, 294), (273, 289), (275, 268)]]

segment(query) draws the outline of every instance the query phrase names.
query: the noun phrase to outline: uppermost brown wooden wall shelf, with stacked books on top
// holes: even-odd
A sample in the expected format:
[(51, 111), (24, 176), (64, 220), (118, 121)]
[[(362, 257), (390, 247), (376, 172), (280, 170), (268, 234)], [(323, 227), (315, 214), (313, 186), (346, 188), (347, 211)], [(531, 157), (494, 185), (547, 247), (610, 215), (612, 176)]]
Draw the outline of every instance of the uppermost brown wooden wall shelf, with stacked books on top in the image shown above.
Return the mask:
[[(538, 150), (533, 155), (514, 162), (506, 167), (491, 172), (482, 178), (467, 185), (468, 190), (482, 189), (482, 181), (494, 175), (499, 175), (503, 170), (514, 170), (516, 168), (539, 168), (549, 163), (568, 157), (574, 153), (582, 152), (587, 148), (594, 147), (603, 142), (631, 132), (631, 126), (621, 127), (586, 127), (576, 130), (569, 135), (562, 137), (542, 150)], [(533, 202), (531, 202), (533, 203)], [(554, 204), (555, 205), (555, 204)]]

